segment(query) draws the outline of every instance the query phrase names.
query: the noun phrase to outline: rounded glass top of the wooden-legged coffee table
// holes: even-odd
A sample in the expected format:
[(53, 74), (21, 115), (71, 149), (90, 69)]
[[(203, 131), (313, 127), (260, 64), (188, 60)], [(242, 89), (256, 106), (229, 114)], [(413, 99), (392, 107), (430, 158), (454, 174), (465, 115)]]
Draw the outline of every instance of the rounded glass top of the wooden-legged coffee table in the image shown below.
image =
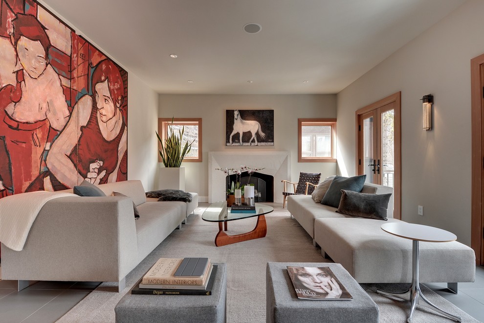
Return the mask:
[(227, 201), (215, 202), (203, 212), (202, 220), (208, 222), (226, 222), (263, 215), (274, 210), (274, 208), (260, 203), (255, 203), (255, 207), (255, 213), (231, 213), (230, 208), (227, 208)]

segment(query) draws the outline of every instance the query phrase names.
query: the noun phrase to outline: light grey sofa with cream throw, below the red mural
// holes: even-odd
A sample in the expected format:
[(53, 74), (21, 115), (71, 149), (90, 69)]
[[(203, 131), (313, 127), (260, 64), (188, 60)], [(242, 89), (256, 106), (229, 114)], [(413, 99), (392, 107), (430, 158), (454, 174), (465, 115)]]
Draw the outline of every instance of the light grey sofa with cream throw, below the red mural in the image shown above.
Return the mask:
[[(62, 197), (39, 212), (22, 251), (1, 245), (2, 279), (115, 281), (126, 286), (126, 275), (173, 230), (181, 228), (198, 206), (148, 201), (140, 181), (98, 186), (106, 197)], [(127, 197), (110, 196), (113, 191)], [(135, 220), (132, 203), (140, 218)]]

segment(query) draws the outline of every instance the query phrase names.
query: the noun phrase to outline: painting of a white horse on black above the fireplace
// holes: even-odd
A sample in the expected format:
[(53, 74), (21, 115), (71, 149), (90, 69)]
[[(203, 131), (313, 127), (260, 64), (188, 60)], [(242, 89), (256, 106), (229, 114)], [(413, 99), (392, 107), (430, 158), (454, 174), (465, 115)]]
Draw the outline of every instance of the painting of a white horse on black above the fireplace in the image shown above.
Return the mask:
[(274, 110), (225, 110), (226, 146), (273, 146)]

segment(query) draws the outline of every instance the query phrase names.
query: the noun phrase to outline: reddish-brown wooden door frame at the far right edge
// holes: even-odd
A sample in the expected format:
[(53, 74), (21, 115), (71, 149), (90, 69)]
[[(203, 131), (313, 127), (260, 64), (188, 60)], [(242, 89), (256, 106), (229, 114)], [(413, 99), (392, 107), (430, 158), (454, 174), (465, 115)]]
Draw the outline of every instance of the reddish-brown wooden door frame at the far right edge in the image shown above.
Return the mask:
[(476, 264), (484, 264), (483, 248), (483, 87), (481, 66), (484, 54), (471, 59), (471, 128), (472, 128), (472, 193), (471, 193), (471, 248), (476, 254)]

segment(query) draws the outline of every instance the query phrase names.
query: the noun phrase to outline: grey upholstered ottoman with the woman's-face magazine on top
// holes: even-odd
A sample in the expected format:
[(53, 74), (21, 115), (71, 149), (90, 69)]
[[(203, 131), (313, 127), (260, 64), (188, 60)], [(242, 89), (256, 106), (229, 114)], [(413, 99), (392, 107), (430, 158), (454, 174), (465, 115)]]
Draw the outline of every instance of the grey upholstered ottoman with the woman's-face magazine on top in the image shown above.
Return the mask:
[[(352, 300), (300, 300), (287, 266), (330, 267)], [(350, 274), (335, 263), (268, 262), (266, 269), (267, 322), (378, 323), (378, 308)]]

